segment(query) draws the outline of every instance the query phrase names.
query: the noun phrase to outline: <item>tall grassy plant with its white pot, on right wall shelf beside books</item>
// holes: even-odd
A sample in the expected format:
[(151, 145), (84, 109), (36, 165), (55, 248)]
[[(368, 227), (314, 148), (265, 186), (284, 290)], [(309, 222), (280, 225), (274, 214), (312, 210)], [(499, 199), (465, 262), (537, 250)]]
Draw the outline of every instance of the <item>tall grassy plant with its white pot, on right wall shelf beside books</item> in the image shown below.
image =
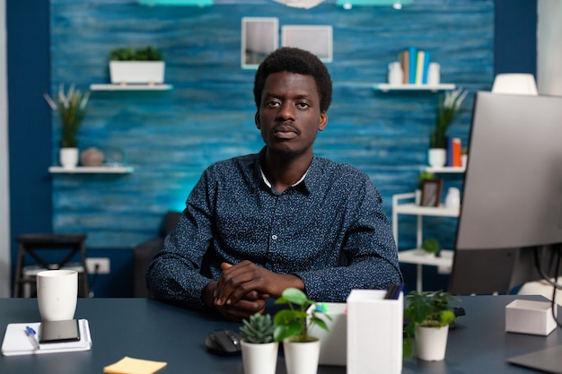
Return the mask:
[(461, 110), (462, 101), (468, 90), (446, 91), (439, 95), (435, 128), (429, 135), (428, 163), (433, 167), (443, 167), (447, 161), (447, 130)]

